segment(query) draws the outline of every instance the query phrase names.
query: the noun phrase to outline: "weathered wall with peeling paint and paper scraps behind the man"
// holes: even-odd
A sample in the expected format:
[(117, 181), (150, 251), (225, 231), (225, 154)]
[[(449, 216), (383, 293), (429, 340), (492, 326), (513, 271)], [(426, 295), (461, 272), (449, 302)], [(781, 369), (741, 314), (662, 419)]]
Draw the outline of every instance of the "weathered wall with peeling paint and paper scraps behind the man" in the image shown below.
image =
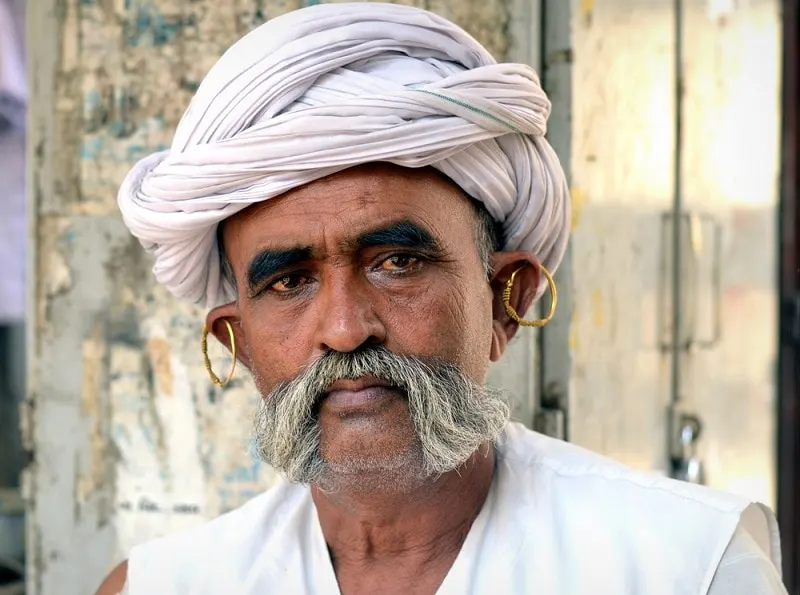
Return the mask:
[[(417, 2), (496, 56), (535, 56), (504, 0)], [(524, 5), (528, 19), (536, 2)], [(155, 286), (116, 189), (166, 147), (216, 57), (300, 2), (41, 0), (28, 4), (32, 316), (25, 441), (32, 595), (93, 592), (134, 543), (235, 507), (273, 473), (248, 454), (256, 391), (208, 382), (204, 312)], [(530, 413), (533, 338), (495, 374)], [(229, 365), (212, 346), (214, 365)], [(511, 360), (509, 360), (511, 361)]]

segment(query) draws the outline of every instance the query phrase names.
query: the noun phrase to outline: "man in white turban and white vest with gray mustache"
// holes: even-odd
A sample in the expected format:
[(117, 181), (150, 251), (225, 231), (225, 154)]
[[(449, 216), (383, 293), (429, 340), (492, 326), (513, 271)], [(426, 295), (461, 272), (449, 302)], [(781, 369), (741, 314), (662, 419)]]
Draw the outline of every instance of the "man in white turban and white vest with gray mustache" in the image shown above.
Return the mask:
[(286, 480), (100, 594), (784, 592), (766, 508), (534, 434), (485, 386), (556, 297), (548, 113), (530, 68), (409, 7), (303, 9), (221, 58), (119, 202), (253, 374)]

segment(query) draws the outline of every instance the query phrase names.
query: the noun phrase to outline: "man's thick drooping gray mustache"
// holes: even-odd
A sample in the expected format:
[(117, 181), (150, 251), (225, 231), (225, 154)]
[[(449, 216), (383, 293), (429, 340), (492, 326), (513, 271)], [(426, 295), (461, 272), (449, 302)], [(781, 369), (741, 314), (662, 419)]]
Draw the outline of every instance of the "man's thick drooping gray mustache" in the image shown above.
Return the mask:
[[(502, 391), (474, 382), (453, 364), (382, 346), (328, 352), (262, 399), (255, 420), (260, 458), (290, 481), (320, 482), (332, 467), (320, 452), (319, 402), (338, 380), (365, 376), (404, 393), (425, 477), (458, 468), (481, 444), (495, 440), (509, 418)], [(355, 470), (362, 466), (352, 464)]]

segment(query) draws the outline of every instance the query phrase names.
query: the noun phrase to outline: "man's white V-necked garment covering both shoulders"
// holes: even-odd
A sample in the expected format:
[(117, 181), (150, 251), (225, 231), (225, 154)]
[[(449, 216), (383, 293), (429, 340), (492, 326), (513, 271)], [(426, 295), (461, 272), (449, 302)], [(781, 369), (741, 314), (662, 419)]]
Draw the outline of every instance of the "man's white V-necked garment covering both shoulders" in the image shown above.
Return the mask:
[[(773, 595), (785, 593), (779, 566), (765, 507), (510, 424), (438, 594)], [(742, 590), (745, 571), (755, 575)], [(722, 587), (712, 587), (716, 574)], [(310, 492), (287, 483), (134, 548), (128, 583), (130, 595), (339, 595)]]

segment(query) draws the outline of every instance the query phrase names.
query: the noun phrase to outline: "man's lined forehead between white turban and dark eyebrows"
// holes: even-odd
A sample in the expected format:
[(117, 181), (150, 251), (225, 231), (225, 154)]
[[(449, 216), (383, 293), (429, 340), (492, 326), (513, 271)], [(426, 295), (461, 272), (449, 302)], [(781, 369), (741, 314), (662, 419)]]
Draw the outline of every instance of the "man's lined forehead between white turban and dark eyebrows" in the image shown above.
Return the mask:
[(264, 248), (325, 248), (400, 220), (418, 222), (445, 242), (467, 241), (474, 208), (458, 186), (432, 169), (375, 164), (249, 207), (225, 222), (223, 235), (235, 261)]

